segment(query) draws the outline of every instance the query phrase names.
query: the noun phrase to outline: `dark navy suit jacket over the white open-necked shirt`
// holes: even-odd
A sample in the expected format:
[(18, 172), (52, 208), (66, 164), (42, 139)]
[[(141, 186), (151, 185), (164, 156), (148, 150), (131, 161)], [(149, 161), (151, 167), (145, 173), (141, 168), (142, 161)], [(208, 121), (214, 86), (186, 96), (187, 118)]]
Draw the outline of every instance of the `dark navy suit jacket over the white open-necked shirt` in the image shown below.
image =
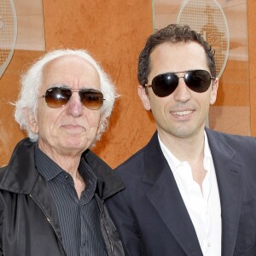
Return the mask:
[[(218, 179), (222, 256), (256, 255), (256, 139), (210, 130), (207, 137)], [(108, 207), (127, 255), (202, 256), (157, 133), (117, 172), (126, 189)]]

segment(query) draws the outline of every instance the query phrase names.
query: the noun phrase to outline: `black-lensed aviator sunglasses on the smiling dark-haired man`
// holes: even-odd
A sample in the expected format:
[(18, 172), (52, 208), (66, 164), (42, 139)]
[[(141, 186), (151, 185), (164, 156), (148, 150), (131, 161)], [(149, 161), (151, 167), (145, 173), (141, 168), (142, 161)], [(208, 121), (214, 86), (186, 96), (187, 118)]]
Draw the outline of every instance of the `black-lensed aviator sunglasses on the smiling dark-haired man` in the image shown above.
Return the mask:
[[(184, 73), (178, 77), (177, 73)], [(151, 84), (145, 84), (145, 87), (152, 87), (154, 94), (159, 97), (166, 97), (176, 90), (179, 79), (183, 78), (185, 84), (190, 90), (195, 92), (205, 92), (208, 90), (211, 80), (214, 80), (207, 70), (189, 70), (176, 73), (162, 73), (152, 80)]]

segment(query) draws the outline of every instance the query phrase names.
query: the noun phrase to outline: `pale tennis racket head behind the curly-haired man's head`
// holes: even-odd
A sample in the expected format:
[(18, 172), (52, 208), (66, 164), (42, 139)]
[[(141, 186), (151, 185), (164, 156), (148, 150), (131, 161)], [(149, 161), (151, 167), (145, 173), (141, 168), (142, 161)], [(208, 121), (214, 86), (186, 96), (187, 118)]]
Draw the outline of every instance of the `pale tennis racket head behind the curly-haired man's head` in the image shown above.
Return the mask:
[(215, 0), (184, 0), (177, 17), (178, 24), (188, 24), (201, 33), (215, 51), (218, 79), (224, 72), (230, 49), (230, 33), (223, 9)]

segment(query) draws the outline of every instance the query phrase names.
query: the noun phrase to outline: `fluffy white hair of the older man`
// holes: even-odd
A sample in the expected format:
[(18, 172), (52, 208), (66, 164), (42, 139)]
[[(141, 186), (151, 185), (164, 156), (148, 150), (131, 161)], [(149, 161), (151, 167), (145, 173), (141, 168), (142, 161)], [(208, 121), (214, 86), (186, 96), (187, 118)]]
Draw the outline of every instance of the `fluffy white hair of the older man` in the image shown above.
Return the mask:
[(17, 102), (15, 102), (15, 120), (20, 125), (20, 129), (26, 131), (27, 136), (30, 137), (32, 142), (38, 141), (38, 134), (32, 132), (30, 129), (28, 119), (26, 118), (25, 108), (31, 111), (34, 116), (37, 115), (38, 92), (43, 81), (44, 66), (49, 63), (49, 61), (64, 55), (79, 56), (96, 68), (100, 77), (101, 91), (105, 100), (101, 108), (102, 125), (95, 141), (100, 139), (102, 132), (106, 131), (108, 127), (108, 117), (112, 112), (115, 98), (118, 96), (116, 94), (115, 86), (108, 77), (108, 74), (105, 73), (101, 65), (84, 49), (56, 49), (39, 58), (38, 61), (34, 62), (32, 66), (28, 68), (26, 73), (23, 73), (20, 77), (21, 88), (20, 96)]

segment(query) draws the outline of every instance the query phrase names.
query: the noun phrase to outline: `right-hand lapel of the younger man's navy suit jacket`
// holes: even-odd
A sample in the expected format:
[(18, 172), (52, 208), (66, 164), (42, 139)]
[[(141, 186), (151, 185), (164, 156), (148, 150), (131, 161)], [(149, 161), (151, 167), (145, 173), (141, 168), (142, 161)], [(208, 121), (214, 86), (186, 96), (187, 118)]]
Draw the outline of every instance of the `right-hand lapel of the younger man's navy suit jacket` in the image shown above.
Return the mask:
[(233, 255), (241, 212), (241, 163), (226, 137), (207, 130), (208, 142), (218, 180), (222, 217), (222, 255)]

